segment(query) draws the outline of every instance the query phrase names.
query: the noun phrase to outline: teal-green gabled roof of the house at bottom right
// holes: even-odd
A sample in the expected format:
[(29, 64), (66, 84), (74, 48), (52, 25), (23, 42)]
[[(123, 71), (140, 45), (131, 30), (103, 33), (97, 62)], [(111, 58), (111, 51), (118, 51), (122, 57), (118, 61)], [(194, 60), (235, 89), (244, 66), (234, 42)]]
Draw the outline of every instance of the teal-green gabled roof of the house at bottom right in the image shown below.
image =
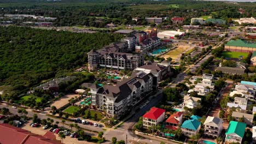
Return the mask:
[(245, 135), (245, 129), (246, 129), (246, 123), (230, 121), (229, 127), (226, 130), (225, 134), (228, 135), (228, 134), (235, 133), (238, 136), (243, 138), (243, 135)]

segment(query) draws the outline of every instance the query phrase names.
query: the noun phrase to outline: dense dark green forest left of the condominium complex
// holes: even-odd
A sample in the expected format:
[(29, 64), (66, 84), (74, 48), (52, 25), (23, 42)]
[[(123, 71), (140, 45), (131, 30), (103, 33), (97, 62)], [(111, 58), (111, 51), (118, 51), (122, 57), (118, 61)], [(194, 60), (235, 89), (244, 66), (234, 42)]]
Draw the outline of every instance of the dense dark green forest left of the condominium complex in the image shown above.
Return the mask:
[(0, 86), (23, 90), (86, 63), (86, 52), (123, 37), (0, 27)]

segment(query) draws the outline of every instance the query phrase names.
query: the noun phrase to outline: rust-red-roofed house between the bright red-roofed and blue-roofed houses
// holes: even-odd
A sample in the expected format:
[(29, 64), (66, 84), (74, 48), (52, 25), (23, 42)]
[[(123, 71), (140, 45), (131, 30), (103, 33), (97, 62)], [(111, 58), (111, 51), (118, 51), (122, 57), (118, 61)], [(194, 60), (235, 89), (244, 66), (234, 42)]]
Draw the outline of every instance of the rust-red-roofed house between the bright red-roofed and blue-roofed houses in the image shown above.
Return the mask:
[(179, 124), (182, 124), (183, 113), (177, 111), (168, 117), (165, 121), (165, 128), (176, 130)]

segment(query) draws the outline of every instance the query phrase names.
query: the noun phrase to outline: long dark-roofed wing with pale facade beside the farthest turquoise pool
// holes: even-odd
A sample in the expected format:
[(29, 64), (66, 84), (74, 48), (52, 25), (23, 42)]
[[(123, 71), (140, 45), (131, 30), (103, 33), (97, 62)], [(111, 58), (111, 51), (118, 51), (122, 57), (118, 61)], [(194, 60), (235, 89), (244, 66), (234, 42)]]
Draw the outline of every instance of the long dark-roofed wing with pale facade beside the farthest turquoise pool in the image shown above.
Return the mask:
[(148, 52), (153, 50), (155, 47), (159, 46), (161, 40), (158, 37), (152, 37), (142, 41), (135, 46), (136, 52)]

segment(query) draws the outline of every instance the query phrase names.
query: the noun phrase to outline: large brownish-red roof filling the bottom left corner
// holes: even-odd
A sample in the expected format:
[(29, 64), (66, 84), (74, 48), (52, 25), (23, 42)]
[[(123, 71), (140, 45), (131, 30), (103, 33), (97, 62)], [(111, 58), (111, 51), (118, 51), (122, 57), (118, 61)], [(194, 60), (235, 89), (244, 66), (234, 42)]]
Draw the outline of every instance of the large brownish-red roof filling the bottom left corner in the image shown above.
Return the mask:
[(47, 137), (33, 134), (28, 130), (17, 128), (7, 123), (0, 123), (0, 143), (61, 144), (60, 141), (51, 140)]

